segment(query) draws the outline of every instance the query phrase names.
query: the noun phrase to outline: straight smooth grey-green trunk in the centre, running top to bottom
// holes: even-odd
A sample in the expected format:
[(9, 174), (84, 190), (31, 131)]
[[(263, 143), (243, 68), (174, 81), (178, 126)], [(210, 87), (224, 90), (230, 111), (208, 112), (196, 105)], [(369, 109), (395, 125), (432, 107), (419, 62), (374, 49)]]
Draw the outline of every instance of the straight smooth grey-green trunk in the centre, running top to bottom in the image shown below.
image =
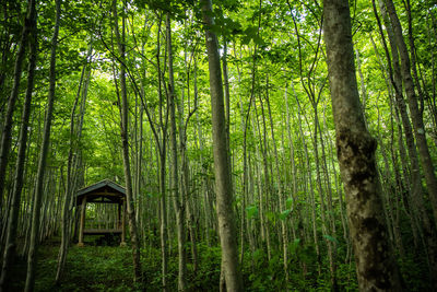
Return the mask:
[(238, 267), (237, 233), (233, 210), (233, 189), (229, 176), (229, 160), (226, 145), (226, 122), (224, 113), (224, 95), (221, 74), (218, 42), (211, 31), (212, 17), (211, 0), (202, 0), (203, 22), (205, 26), (205, 43), (208, 50), (212, 132), (214, 152), (215, 187), (217, 194), (218, 232), (222, 246), (222, 267), (225, 269), (227, 291), (241, 291), (241, 278)]

